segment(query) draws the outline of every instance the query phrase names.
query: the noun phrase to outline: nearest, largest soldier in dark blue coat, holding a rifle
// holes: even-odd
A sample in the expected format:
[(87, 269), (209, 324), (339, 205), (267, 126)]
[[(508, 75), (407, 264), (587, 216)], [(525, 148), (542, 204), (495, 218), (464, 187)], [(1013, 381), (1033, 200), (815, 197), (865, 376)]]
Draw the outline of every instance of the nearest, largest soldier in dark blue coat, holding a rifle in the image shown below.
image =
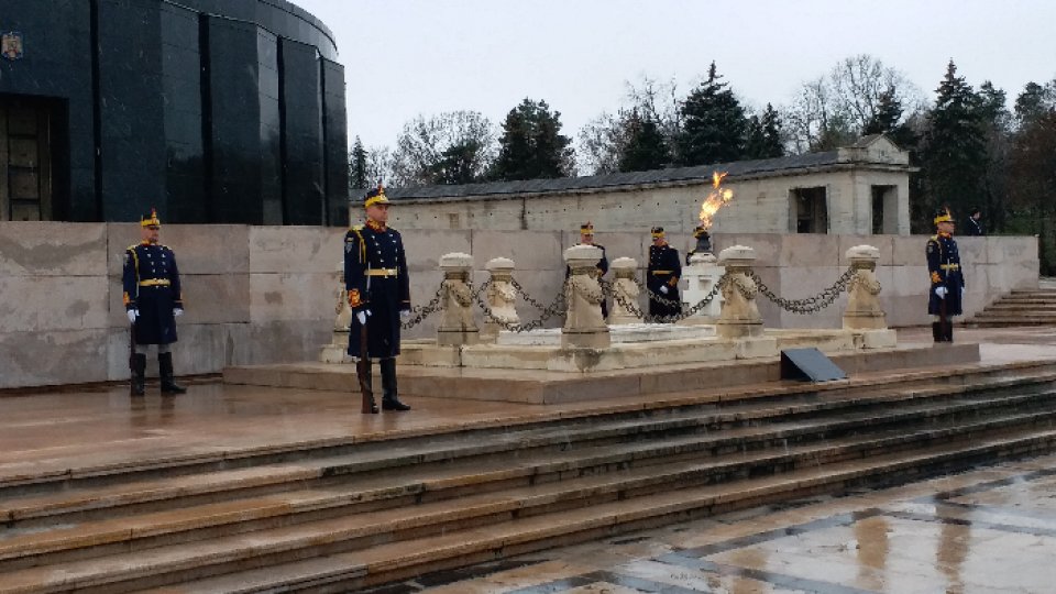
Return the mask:
[[(396, 391), (400, 318), (410, 316), (410, 277), (399, 233), (388, 227), (388, 197), (378, 184), (363, 199), (366, 222), (344, 235), (344, 287), (352, 309), (349, 354), (380, 360), (382, 408), (410, 410)], [(366, 326), (367, 350), (360, 352), (360, 333)], [(367, 365), (370, 370), (370, 365)], [(372, 413), (377, 407), (371, 403)]]

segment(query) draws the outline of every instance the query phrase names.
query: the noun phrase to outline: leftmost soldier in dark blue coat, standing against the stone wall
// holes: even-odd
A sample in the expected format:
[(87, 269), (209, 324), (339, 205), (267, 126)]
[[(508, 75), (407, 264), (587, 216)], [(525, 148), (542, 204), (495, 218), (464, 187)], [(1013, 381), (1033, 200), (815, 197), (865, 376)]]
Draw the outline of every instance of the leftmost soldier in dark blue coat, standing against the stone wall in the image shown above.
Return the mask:
[(132, 395), (142, 396), (147, 345), (157, 345), (157, 367), (163, 394), (183, 394), (175, 382), (172, 343), (176, 342), (176, 318), (184, 312), (176, 254), (158, 243), (162, 221), (157, 211), (141, 218), (143, 240), (124, 251), (124, 308), (132, 323), (135, 351), (132, 355)]

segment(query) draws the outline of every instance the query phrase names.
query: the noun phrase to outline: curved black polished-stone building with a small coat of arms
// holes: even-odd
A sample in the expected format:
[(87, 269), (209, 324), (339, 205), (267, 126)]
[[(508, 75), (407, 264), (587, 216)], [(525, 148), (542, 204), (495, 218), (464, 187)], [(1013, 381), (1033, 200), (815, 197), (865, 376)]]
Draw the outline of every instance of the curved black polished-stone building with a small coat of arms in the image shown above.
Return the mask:
[(346, 224), (336, 59), (284, 0), (0, 0), (0, 220)]

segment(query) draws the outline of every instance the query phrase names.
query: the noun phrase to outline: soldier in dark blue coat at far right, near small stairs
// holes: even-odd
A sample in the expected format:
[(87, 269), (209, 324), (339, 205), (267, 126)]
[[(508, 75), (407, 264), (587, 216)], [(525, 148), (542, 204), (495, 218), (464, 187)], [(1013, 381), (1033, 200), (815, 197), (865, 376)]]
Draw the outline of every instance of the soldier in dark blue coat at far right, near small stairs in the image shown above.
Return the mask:
[(935, 342), (954, 341), (953, 316), (961, 315), (961, 294), (965, 276), (960, 270), (960, 253), (954, 241), (954, 217), (945, 208), (935, 213), (936, 234), (927, 240), (927, 272), (932, 287), (928, 292), (927, 312), (932, 321), (932, 338)]

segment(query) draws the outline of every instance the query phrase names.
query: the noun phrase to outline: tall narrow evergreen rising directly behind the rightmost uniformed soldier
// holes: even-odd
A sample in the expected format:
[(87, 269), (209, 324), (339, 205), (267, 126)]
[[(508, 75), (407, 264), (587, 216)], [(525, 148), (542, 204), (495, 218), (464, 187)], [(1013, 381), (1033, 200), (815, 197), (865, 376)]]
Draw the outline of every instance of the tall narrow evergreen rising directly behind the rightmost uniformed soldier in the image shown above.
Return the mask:
[(924, 133), (921, 162), (932, 209), (949, 205), (957, 216), (983, 202), (987, 165), (981, 100), (950, 61)]

